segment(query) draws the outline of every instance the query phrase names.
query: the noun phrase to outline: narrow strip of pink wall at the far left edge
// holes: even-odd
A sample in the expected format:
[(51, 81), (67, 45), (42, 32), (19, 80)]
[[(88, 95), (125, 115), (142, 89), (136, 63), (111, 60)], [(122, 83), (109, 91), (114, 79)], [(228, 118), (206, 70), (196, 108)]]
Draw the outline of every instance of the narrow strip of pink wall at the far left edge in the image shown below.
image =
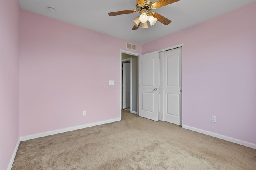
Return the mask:
[(0, 0), (0, 169), (8, 167), (19, 140), (17, 0)]

